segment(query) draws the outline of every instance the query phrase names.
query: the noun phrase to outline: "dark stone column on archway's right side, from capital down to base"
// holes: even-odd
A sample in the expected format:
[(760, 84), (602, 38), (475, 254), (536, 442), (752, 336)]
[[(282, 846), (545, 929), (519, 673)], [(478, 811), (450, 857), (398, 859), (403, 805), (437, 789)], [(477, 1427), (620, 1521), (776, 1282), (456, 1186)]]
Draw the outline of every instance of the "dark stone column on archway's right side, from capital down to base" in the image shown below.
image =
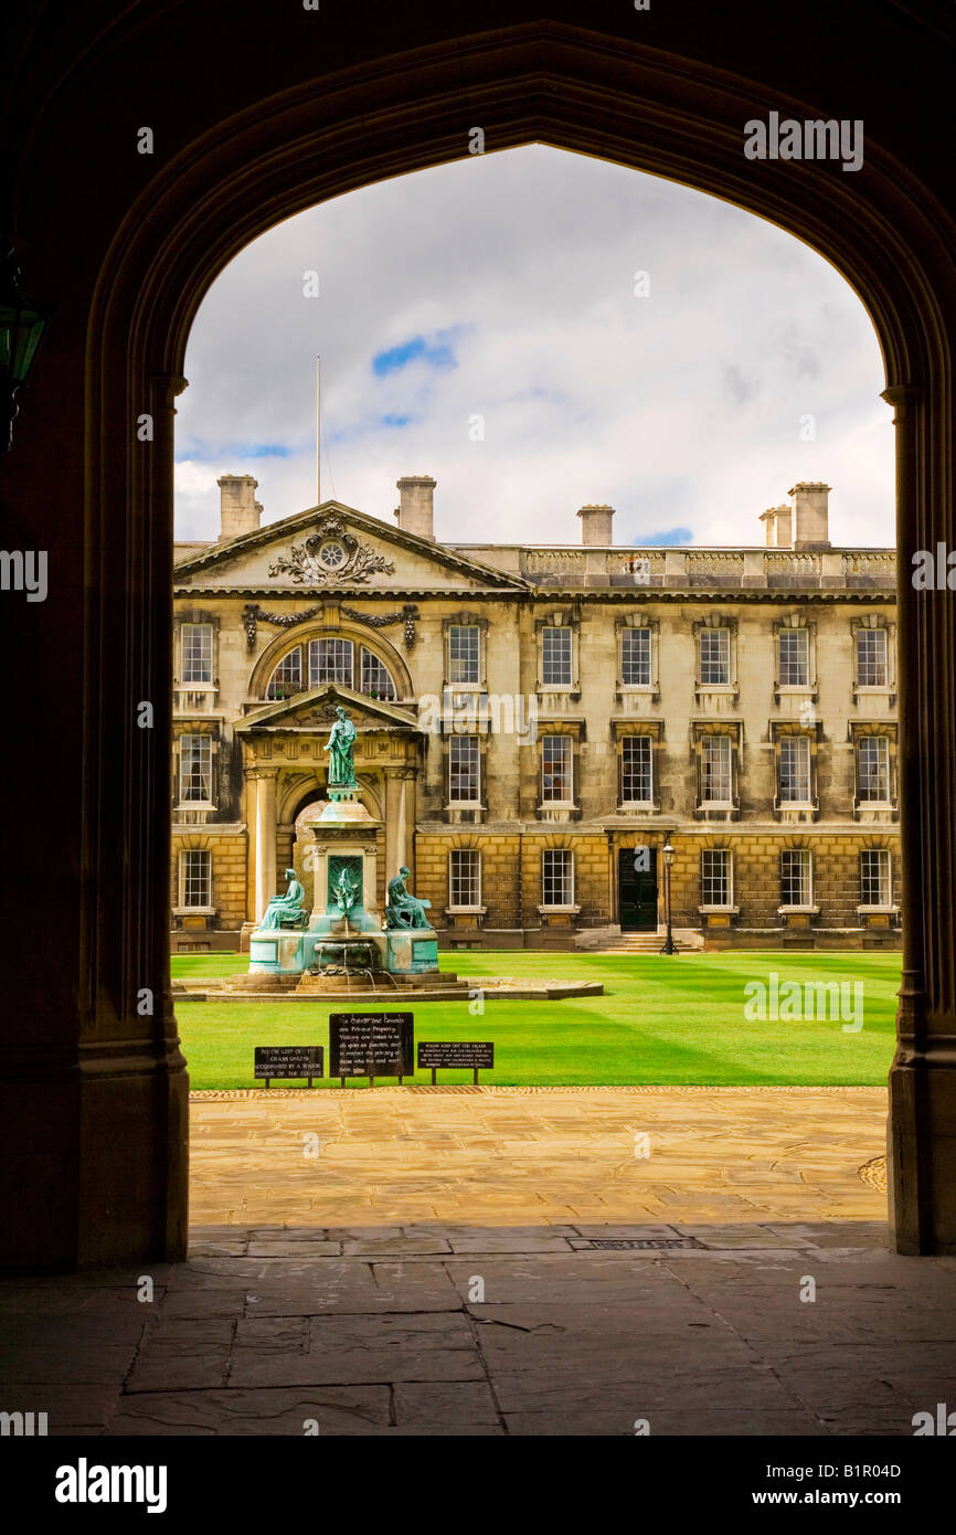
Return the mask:
[(928, 499), (921, 439), (933, 428), (921, 393), (887, 388), (896, 427), (899, 829), (902, 985), (890, 1067), (888, 1193), (898, 1253), (956, 1253), (956, 711), (953, 605), (915, 591), (913, 554), (956, 546), (953, 500)]

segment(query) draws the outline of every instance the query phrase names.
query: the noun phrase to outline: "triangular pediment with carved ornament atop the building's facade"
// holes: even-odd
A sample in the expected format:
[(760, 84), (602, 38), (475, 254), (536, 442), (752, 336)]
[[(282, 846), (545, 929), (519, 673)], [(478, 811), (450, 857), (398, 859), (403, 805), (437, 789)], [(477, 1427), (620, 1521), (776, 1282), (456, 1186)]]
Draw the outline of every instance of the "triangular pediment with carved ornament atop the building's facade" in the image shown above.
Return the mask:
[(190, 553), (176, 563), (173, 579), (181, 596), (189, 589), (319, 596), (528, 588), (520, 576), (482, 565), (416, 533), (391, 528), (338, 500)]

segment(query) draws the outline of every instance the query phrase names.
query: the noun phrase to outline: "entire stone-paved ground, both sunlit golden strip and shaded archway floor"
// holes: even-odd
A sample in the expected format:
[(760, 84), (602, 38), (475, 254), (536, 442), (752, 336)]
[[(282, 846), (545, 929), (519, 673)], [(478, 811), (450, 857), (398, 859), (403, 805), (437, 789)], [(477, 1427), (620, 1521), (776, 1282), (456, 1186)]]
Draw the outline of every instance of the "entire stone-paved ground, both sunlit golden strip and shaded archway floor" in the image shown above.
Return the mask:
[(887, 1251), (859, 1174), (884, 1113), (869, 1088), (199, 1099), (190, 1260), (0, 1282), (0, 1406), (107, 1437), (908, 1437), (956, 1406), (956, 1259)]

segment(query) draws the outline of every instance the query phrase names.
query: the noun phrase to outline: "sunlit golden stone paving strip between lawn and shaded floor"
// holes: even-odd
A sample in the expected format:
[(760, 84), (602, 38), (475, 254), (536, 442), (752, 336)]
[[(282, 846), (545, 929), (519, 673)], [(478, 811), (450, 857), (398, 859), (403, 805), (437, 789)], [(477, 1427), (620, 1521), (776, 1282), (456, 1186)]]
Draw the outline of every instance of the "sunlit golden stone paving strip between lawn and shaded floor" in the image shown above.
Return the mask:
[[(885, 1219), (885, 1088), (193, 1094), (201, 1225)], [(308, 1139), (312, 1137), (312, 1139)]]

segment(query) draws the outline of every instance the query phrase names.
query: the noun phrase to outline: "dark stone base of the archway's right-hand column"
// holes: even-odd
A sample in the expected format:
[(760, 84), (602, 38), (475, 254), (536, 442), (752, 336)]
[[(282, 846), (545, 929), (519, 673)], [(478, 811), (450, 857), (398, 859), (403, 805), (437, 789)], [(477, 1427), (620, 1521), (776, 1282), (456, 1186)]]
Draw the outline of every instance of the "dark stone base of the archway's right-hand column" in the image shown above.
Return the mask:
[(893, 1246), (956, 1254), (956, 1039), (890, 1068), (887, 1183)]

